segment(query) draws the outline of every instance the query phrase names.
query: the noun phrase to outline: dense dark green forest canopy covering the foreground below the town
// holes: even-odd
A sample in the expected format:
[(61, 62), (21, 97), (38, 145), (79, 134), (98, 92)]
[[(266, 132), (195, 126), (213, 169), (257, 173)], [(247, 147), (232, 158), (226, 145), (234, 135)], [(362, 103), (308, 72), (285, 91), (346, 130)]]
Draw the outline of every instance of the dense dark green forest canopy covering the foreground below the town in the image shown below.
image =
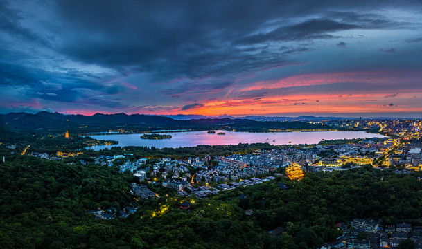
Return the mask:
[[(14, 156), (0, 165), (1, 248), (316, 248), (353, 218), (421, 225), (419, 172), (360, 169), (278, 176), (209, 199), (134, 201), (132, 174), (117, 167)], [(281, 190), (277, 183), (290, 185)], [(238, 196), (244, 194), (244, 199)], [(179, 208), (191, 203), (191, 212)], [(87, 210), (139, 205), (128, 218), (94, 219)], [(252, 210), (247, 215), (245, 210)], [(268, 233), (282, 226), (279, 237)]]

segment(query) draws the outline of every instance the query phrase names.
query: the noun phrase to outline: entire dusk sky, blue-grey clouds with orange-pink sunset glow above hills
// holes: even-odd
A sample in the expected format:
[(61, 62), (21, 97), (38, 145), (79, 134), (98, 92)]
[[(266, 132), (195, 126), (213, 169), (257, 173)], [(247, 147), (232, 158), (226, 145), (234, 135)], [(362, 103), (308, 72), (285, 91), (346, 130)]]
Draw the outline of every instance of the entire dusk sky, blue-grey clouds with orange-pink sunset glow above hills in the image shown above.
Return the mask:
[(0, 0), (0, 112), (422, 117), (422, 1)]

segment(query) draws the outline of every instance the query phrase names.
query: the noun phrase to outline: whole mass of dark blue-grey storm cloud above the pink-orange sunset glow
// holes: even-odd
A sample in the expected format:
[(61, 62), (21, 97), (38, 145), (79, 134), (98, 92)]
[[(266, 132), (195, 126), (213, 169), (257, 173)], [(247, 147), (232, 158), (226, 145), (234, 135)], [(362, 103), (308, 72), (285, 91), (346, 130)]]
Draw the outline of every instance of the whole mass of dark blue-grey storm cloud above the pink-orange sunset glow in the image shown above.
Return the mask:
[[(157, 104), (151, 109), (161, 108), (158, 102), (177, 108), (194, 103), (182, 107), (187, 110), (231, 92), (231, 98), (264, 98), (273, 93), (236, 89), (247, 80), (281, 78), (273, 68), (312, 64), (300, 56), (318, 52), (317, 42), (352, 50), (350, 37), (365, 37), (355, 30), (417, 30), (415, 22), (375, 10), (420, 6), (363, 0), (0, 1), (0, 87), (19, 86), (26, 97), (51, 103), (110, 109), (153, 106), (150, 100)], [(420, 42), (417, 37), (402, 41)], [(390, 46), (403, 50), (378, 47)], [(328, 55), (322, 54), (318, 61), (324, 62)], [(335, 66), (289, 73), (344, 71)], [(272, 73), (255, 77), (265, 71)]]

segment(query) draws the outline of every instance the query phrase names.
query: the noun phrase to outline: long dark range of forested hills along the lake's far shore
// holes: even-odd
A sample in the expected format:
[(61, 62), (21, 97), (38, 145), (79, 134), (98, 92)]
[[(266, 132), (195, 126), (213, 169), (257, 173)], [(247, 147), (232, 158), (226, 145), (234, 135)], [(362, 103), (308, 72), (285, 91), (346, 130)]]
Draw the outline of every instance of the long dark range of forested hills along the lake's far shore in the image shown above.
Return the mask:
[[(36, 114), (9, 113), (0, 116), (1, 125), (9, 129), (27, 130), (66, 130), (107, 131), (137, 127), (138, 129), (231, 129), (236, 131), (270, 131), (272, 129), (328, 130), (325, 125), (306, 122), (259, 122), (247, 119), (203, 118), (195, 120), (173, 120), (162, 116), (125, 113), (101, 114), (93, 116), (63, 115), (41, 111)], [(83, 127), (83, 128), (81, 128)]]

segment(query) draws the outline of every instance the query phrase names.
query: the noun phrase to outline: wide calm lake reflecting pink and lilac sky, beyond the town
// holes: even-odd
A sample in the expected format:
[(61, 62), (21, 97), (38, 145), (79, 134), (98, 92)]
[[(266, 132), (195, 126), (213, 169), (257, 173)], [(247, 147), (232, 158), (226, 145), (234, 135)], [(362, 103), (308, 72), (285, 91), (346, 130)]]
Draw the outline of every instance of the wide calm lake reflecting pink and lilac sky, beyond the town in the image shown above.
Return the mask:
[[(226, 135), (218, 135), (225, 132)], [(352, 138), (385, 138), (380, 134), (366, 133), (364, 131), (315, 131), (315, 132), (273, 132), (273, 133), (250, 133), (235, 131), (207, 131), (190, 132), (162, 132), (170, 134), (170, 139), (150, 140), (141, 139), (143, 133), (135, 134), (112, 134), (90, 136), (97, 140), (114, 140), (118, 145), (95, 145), (87, 147), (96, 151), (116, 146), (147, 146), (147, 147), (194, 147), (197, 145), (238, 145), (241, 143), (268, 142), (271, 145), (299, 145), (317, 144), (321, 140), (352, 139)], [(291, 142), (291, 143), (289, 143)]]

